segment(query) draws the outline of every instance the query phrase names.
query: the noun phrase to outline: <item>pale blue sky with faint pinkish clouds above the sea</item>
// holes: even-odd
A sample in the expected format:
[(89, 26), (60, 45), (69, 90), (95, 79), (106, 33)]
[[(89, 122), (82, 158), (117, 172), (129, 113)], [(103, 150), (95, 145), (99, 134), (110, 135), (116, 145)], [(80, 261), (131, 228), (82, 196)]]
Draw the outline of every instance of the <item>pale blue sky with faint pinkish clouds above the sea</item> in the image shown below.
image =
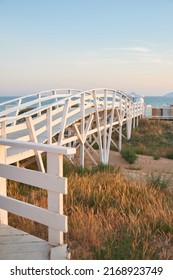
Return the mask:
[(0, 0), (0, 95), (173, 91), (173, 0)]

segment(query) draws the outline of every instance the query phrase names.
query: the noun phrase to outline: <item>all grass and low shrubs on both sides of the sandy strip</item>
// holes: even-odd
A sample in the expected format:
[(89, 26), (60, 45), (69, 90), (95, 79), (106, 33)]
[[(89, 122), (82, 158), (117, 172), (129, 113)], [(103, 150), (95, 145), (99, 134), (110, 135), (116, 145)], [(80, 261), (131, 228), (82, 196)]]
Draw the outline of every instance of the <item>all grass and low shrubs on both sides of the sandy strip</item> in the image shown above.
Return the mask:
[[(173, 158), (173, 124), (142, 120), (124, 146), (122, 155), (130, 163), (136, 154)], [(173, 259), (173, 194), (168, 177), (151, 173), (139, 182), (103, 164), (92, 170), (65, 164), (64, 176), (69, 222), (65, 242), (72, 259)], [(47, 207), (46, 191), (9, 181), (8, 194)], [(9, 222), (47, 239), (42, 225), (12, 214)]]

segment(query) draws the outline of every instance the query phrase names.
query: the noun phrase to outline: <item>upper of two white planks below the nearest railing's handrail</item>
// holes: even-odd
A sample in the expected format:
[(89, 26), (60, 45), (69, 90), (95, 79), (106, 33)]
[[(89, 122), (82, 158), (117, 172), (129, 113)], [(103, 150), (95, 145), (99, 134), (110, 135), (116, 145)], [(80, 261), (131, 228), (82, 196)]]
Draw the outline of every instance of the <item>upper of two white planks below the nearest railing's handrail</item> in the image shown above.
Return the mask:
[(64, 177), (2, 163), (0, 163), (0, 176), (52, 192), (67, 194), (67, 178)]

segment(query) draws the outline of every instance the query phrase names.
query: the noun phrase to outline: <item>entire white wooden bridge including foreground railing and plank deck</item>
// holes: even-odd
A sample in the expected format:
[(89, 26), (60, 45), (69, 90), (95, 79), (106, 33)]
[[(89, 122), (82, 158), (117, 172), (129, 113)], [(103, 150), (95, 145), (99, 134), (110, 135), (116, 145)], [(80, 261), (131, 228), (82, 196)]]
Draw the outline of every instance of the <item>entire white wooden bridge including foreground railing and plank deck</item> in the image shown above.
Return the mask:
[[(121, 150), (122, 137), (130, 139), (144, 109), (143, 101), (132, 102), (115, 89), (57, 89), (0, 105), (0, 259), (66, 258), (63, 194), (67, 193), (67, 179), (63, 178), (63, 156), (73, 161), (79, 149), (81, 166), (85, 154), (93, 164), (108, 164), (111, 144)], [(112, 139), (113, 132), (118, 134), (117, 142)], [(43, 152), (47, 154), (46, 173)], [(32, 156), (39, 171), (18, 164)], [(48, 209), (7, 197), (6, 179), (25, 184), (29, 180), (30, 185), (46, 189)], [(47, 225), (48, 242), (9, 227), (8, 212)]]

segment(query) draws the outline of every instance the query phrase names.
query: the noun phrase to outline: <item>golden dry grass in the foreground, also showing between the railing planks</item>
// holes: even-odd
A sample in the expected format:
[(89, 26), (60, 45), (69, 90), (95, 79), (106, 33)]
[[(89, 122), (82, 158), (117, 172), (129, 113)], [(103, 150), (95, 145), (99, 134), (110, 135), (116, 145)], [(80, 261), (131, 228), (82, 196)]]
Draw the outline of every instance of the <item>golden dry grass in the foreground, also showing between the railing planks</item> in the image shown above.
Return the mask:
[[(47, 207), (43, 191), (14, 183), (8, 189), (10, 195)], [(173, 259), (173, 198), (168, 190), (132, 182), (119, 172), (72, 173), (64, 210), (73, 259)], [(11, 215), (10, 223), (47, 238), (45, 227), (34, 222)]]

